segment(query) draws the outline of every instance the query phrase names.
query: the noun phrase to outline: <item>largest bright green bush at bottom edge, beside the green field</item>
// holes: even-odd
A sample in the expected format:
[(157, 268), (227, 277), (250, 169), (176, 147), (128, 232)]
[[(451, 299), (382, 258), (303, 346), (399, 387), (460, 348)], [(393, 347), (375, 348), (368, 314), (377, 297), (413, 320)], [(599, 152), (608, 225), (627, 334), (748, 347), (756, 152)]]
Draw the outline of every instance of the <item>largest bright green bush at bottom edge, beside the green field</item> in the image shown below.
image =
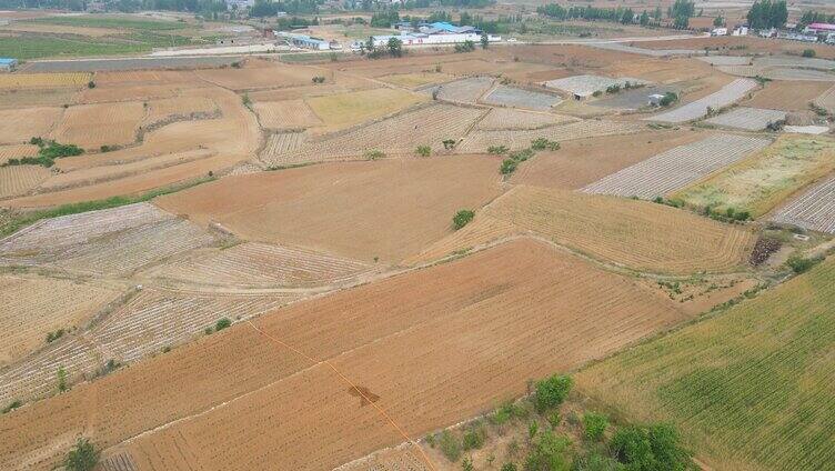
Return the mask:
[(692, 454), (678, 441), (677, 431), (668, 424), (630, 425), (615, 432), (610, 449), (630, 471), (694, 469)]

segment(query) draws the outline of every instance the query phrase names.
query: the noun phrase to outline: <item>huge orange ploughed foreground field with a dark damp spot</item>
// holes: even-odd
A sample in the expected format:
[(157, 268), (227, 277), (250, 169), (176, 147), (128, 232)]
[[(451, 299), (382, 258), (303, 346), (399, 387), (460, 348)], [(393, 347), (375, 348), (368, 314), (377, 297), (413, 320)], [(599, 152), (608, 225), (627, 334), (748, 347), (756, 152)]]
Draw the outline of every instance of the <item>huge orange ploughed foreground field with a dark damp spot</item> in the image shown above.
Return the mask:
[(263, 334), (241, 323), (2, 415), (0, 467), (46, 469), (83, 431), (138, 469), (333, 469), (403, 441), (376, 408), (422, 437), (685, 319), (630, 279), (511, 243), (281, 309), (254, 322)]

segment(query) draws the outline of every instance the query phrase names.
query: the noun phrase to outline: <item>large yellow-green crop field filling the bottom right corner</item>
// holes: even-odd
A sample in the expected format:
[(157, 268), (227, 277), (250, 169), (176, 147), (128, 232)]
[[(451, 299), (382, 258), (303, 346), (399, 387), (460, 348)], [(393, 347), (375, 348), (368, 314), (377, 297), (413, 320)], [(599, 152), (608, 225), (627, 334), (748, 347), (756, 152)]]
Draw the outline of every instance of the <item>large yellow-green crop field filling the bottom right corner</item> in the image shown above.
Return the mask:
[(835, 460), (835, 260), (575, 375), (628, 420), (673, 422), (712, 469)]

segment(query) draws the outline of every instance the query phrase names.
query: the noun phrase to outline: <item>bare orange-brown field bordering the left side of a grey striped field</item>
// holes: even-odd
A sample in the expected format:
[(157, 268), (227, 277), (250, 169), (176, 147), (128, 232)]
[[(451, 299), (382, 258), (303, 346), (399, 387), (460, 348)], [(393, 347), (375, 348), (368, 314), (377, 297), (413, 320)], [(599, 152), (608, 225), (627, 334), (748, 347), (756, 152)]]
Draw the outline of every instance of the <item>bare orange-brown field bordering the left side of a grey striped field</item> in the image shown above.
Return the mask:
[(575, 190), (676, 146), (704, 138), (687, 131), (642, 132), (565, 141), (513, 173), (513, 183)]

